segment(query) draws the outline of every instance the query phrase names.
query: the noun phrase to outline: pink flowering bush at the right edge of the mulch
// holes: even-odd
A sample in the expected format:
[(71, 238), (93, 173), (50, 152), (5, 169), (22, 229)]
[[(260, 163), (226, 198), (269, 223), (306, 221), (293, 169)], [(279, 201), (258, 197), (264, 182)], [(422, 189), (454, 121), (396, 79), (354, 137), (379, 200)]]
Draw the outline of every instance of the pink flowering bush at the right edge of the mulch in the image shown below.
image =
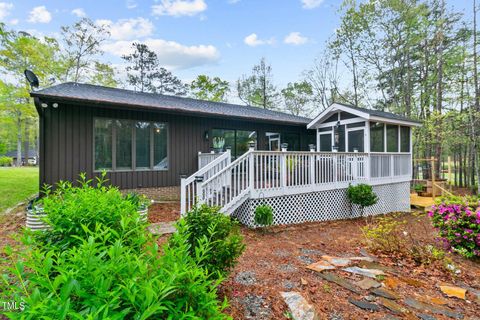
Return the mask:
[(439, 240), (450, 251), (480, 257), (480, 202), (475, 198), (442, 199), (428, 212)]

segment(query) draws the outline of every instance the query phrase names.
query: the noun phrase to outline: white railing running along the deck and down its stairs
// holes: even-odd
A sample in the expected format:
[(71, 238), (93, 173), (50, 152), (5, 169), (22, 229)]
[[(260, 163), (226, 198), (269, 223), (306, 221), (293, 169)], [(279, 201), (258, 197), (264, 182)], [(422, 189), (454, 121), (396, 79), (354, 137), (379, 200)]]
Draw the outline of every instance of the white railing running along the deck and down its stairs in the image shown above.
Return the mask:
[[(223, 167), (216, 161), (224, 161)], [(182, 200), (182, 214), (195, 201), (220, 206), (223, 212), (231, 213), (249, 197), (340, 189), (351, 183), (403, 182), (411, 177), (411, 155), (403, 153), (251, 150), (234, 162), (225, 161), (219, 157), (211, 162), (213, 165), (204, 167), (208, 169), (202, 182), (192, 182), (198, 172), (182, 179), (182, 199), (186, 199)], [(215, 171), (212, 166), (220, 170)]]

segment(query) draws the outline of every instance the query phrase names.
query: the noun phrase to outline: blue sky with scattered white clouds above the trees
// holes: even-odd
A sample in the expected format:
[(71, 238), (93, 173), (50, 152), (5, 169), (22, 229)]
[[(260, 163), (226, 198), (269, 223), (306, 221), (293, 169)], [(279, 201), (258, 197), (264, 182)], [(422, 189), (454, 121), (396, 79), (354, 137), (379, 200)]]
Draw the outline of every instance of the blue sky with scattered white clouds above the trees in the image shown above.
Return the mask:
[[(234, 82), (261, 57), (281, 87), (301, 78), (339, 23), (338, 0), (0, 0), (0, 21), (58, 35), (81, 16), (108, 25), (102, 58), (122, 69), (132, 41), (149, 44), (184, 81), (198, 74)], [(471, 16), (472, 0), (448, 0)]]

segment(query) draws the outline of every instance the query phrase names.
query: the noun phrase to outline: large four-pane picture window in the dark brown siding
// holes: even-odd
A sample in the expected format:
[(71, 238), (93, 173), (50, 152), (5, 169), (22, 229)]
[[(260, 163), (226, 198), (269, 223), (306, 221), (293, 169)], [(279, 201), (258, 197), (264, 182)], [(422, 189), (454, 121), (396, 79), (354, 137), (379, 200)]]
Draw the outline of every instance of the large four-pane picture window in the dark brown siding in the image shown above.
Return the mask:
[(159, 122), (94, 120), (95, 170), (167, 170), (168, 125)]

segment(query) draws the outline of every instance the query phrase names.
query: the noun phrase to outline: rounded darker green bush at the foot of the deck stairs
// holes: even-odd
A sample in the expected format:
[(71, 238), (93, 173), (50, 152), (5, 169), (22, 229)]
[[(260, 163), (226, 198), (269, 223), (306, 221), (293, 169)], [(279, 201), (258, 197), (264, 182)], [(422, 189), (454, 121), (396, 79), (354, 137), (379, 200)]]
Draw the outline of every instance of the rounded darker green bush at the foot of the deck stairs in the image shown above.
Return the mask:
[(219, 211), (218, 207), (201, 205), (194, 207), (184, 217), (185, 235), (190, 244), (190, 254), (195, 256), (203, 239), (210, 245), (208, 254), (199, 261), (212, 277), (221, 277), (237, 263), (245, 250), (237, 221)]

